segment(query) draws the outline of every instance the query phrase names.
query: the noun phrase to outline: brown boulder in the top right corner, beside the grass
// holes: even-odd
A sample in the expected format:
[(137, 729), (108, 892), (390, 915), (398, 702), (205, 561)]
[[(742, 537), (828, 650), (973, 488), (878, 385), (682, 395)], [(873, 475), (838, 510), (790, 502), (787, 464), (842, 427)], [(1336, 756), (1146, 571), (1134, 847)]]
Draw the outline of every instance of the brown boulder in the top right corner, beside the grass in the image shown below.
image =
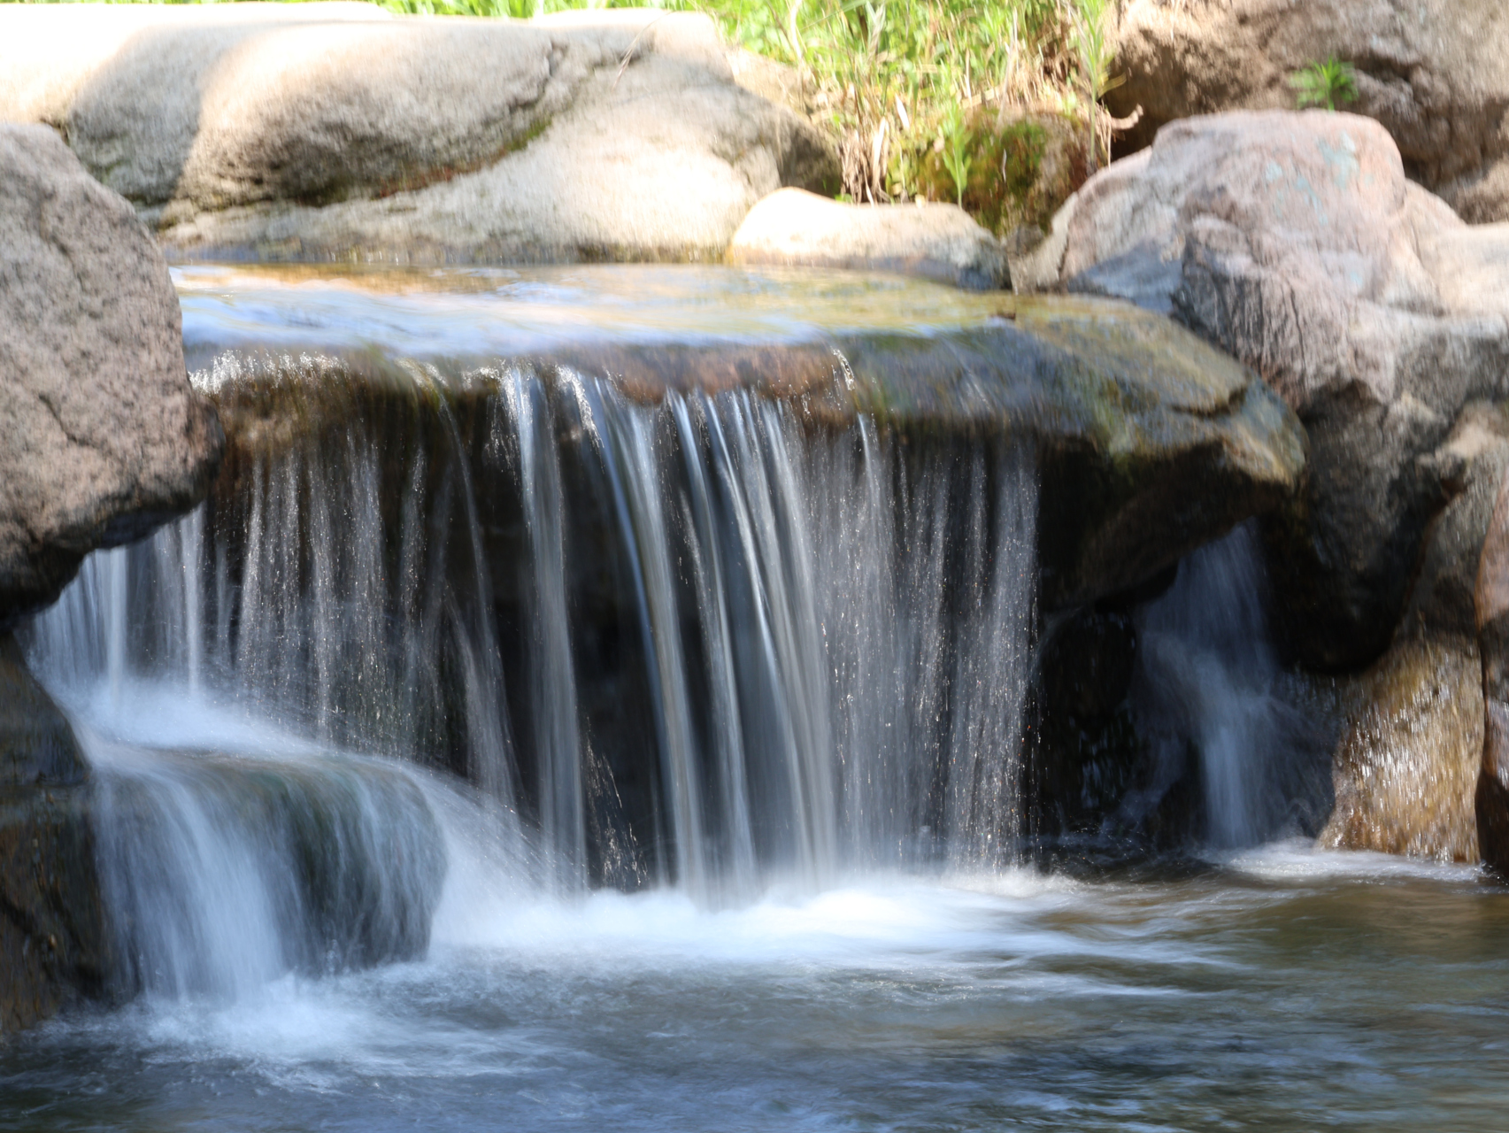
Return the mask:
[(1289, 77), (1357, 68), (1348, 110), (1378, 119), (1411, 178), (1471, 222), (1509, 220), (1509, 8), (1501, 0), (1127, 0), (1108, 101), (1141, 106), (1126, 145), (1179, 118), (1289, 109)]

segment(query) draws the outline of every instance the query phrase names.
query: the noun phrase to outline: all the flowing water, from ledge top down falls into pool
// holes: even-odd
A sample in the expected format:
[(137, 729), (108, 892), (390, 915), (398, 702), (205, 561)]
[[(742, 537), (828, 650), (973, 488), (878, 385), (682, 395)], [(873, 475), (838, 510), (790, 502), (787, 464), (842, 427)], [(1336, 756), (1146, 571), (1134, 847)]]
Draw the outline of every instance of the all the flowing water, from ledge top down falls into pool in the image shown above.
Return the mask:
[[(223, 392), (311, 333), (803, 335), (779, 279), (506, 276), (190, 272), (186, 341)], [(866, 287), (803, 314), (979, 317)], [(1020, 448), (920, 459), (521, 364), (457, 377), (468, 448), (441, 364), (410, 370), (427, 441), (353, 416), (254, 453), (29, 634), (95, 766), (119, 972), (0, 1049), (0, 1130), (1503, 1128), (1509, 892), (1251, 845), (1302, 729), (1249, 531), (1141, 616), (1207, 848), (1019, 864)], [(584, 561), (619, 587), (587, 629)]]

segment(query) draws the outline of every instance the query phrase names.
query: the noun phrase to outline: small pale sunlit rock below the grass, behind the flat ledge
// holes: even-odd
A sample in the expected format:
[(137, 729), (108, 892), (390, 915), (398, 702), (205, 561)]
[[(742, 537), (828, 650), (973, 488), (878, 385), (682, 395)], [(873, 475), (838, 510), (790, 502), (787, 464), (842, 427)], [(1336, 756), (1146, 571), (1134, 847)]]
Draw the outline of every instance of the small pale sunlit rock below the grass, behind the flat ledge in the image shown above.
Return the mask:
[(727, 259), (896, 272), (973, 291), (1008, 282), (1000, 244), (958, 205), (851, 205), (801, 189), (754, 205)]

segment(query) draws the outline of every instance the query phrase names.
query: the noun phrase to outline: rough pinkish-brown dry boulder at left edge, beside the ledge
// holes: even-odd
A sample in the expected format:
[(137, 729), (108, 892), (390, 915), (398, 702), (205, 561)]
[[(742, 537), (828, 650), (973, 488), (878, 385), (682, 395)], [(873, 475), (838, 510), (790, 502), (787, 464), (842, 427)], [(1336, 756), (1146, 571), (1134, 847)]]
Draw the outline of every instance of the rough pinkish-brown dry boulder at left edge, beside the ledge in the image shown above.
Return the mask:
[(190, 508), (220, 428), (130, 205), (42, 127), (0, 127), (0, 629), (97, 546)]

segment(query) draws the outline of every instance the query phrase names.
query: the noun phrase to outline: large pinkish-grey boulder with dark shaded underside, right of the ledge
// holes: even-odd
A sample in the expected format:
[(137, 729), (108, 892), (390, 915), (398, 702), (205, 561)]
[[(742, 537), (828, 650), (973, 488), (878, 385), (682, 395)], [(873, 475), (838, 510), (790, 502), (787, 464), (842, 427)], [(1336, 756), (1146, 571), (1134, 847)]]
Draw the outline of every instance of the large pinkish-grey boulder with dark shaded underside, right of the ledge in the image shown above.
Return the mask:
[(1509, 392), (1509, 228), (1411, 184), (1370, 119), (1230, 113), (1093, 178), (1020, 275), (1168, 311), (1290, 404), (1310, 475), (1269, 531), (1289, 637), (1319, 668), (1378, 658), (1452, 495), (1426, 457)]

